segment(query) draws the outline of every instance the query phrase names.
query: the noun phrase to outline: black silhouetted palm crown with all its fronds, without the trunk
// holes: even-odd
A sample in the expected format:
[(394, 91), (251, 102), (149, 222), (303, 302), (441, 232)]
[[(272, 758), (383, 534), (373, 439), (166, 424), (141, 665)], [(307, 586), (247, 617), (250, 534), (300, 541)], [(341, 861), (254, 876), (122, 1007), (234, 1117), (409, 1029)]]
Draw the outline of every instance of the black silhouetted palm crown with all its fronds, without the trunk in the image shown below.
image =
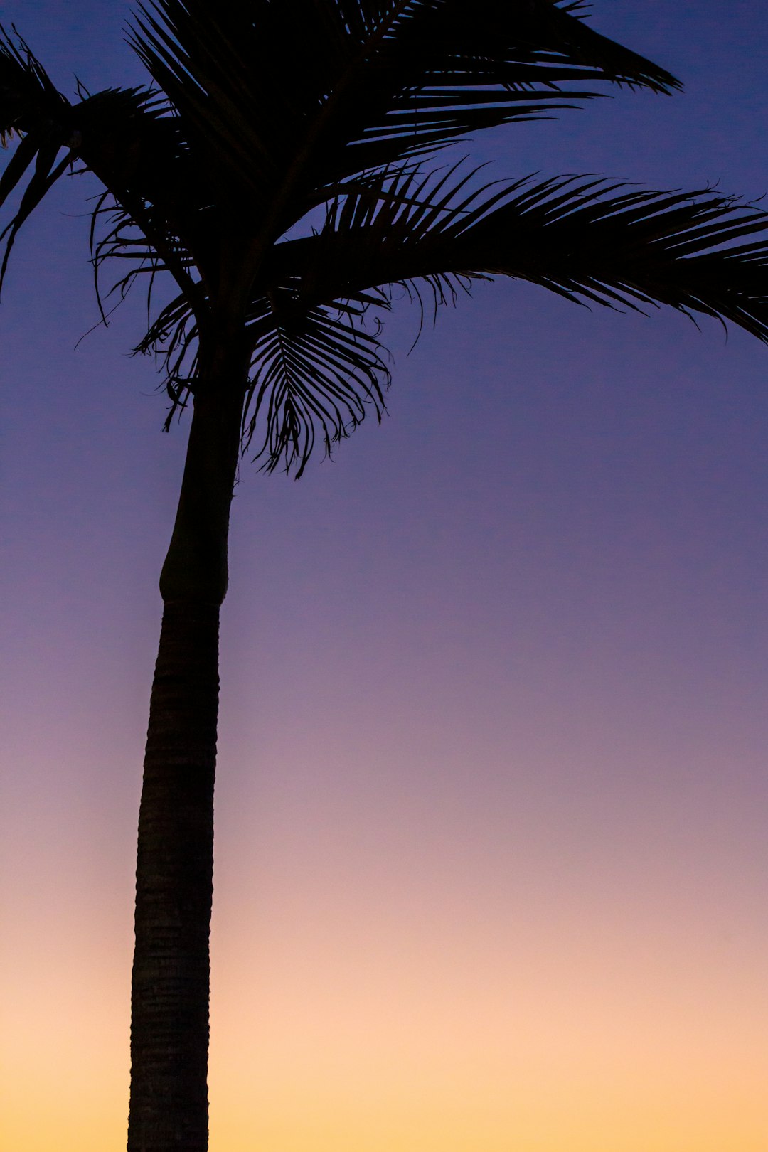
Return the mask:
[(765, 339), (766, 245), (747, 240), (762, 212), (708, 190), (575, 177), (478, 188), (458, 166), (433, 170), (465, 134), (552, 115), (595, 82), (679, 86), (578, 9), (227, 0), (212, 15), (207, 0), (157, 0), (130, 32), (152, 86), (81, 90), (75, 104), (6, 36), (0, 129), (21, 139), (0, 200), (26, 183), (5, 260), (52, 183), (73, 164), (91, 169), (105, 187), (97, 268), (128, 259), (121, 291), (142, 274), (176, 282), (139, 344), (165, 353), (174, 407), (195, 392), (198, 341), (228, 325), (251, 357), (245, 440), (258, 431), (266, 467), (297, 473), (315, 432), (328, 449), (368, 404), (381, 412), (388, 373), (364, 314), (388, 308), (394, 285), (441, 303), (504, 274), (575, 300), (718, 316)]

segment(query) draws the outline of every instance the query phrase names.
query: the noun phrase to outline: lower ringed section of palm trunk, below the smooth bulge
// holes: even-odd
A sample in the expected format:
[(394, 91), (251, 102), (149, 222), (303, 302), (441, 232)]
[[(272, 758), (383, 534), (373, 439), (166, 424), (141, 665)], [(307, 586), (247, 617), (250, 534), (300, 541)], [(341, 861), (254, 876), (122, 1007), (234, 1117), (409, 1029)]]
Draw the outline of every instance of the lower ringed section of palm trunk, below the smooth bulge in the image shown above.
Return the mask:
[(219, 605), (162, 615), (136, 864), (129, 1152), (208, 1146)]

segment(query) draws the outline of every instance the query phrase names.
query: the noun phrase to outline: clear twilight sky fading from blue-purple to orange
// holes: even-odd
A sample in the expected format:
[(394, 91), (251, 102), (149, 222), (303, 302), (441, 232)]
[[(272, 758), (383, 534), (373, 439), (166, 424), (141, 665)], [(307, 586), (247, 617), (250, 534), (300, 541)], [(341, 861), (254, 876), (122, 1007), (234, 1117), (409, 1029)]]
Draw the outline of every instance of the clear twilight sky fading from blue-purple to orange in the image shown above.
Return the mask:
[[(117, 0), (13, 0), (68, 93)], [(595, 0), (668, 67), (494, 176), (768, 192), (753, 0)], [(469, 147), (464, 147), (469, 152)], [(98, 320), (82, 179), (0, 306), (0, 1146), (124, 1147), (136, 816), (187, 425)], [(480, 286), (301, 482), (243, 462), (222, 623), (212, 1152), (768, 1147), (768, 348)]]

